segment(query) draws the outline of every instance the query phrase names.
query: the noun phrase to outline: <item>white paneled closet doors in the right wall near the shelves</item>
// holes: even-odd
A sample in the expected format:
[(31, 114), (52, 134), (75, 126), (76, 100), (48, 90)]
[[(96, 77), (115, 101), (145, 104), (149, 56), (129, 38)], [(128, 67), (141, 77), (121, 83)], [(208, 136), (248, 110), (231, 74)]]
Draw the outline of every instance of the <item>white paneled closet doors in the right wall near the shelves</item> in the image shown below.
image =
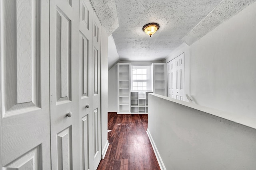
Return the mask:
[(184, 100), (184, 53), (167, 63), (168, 97)]

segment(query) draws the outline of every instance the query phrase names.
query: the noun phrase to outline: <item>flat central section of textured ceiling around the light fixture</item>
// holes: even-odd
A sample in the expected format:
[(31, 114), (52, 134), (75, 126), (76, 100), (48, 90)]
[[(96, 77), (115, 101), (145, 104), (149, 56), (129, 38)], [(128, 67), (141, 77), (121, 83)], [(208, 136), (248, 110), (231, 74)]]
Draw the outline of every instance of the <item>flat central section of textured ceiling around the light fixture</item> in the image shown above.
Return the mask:
[[(159, 60), (182, 44), (182, 38), (221, 0), (116, 0), (119, 27), (112, 33), (121, 60)], [(150, 37), (143, 25), (156, 22)]]

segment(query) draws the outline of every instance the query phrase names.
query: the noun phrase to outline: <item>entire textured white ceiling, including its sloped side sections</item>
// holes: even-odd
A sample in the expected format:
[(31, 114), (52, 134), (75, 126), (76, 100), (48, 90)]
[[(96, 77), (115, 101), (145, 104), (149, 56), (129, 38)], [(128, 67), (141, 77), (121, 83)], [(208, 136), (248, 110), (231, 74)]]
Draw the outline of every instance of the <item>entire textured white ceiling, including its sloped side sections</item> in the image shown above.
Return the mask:
[[(191, 45), (255, 0), (91, 0), (120, 60), (165, 59), (183, 42)], [(142, 27), (156, 22), (150, 37)], [(111, 56), (109, 56), (111, 57)]]

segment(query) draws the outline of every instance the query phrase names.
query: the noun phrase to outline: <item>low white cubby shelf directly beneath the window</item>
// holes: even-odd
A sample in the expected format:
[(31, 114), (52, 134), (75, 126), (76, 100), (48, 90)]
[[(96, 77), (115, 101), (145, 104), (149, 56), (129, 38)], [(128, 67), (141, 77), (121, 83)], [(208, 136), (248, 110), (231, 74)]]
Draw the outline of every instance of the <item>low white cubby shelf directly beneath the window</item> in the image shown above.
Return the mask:
[(131, 113), (148, 113), (148, 94), (153, 92), (131, 92)]

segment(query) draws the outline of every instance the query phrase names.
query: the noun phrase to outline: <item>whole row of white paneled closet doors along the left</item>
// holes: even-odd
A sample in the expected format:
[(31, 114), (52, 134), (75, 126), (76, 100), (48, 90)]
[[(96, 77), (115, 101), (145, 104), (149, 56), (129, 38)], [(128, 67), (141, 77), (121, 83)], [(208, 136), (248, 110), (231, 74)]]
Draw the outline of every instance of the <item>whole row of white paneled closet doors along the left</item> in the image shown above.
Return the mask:
[(96, 170), (100, 65), (89, 0), (0, 0), (2, 170)]

